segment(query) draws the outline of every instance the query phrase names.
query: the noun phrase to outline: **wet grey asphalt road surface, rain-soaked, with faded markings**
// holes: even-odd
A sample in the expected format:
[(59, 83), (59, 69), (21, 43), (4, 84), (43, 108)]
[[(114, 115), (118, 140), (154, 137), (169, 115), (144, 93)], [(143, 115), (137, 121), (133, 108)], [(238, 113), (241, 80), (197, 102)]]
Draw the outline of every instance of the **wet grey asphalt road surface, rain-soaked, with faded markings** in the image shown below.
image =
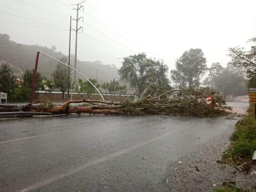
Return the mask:
[(159, 115), (3, 121), (0, 191), (177, 191), (182, 179), (168, 183), (168, 175), (196, 160), (195, 151), (218, 142), (236, 121)]

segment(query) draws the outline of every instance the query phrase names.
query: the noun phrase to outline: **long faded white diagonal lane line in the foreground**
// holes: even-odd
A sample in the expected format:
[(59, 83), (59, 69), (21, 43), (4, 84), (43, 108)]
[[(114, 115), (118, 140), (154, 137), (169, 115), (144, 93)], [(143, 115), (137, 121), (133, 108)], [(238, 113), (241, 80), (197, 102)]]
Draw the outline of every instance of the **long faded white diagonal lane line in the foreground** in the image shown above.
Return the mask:
[(88, 164), (82, 165), (82, 166), (80, 166), (80, 167), (78, 167), (78, 168), (76, 168), (74, 170), (69, 171), (69, 172), (61, 173), (60, 175), (56, 175), (56, 176), (54, 176), (54, 177), (52, 177), (50, 179), (39, 181), (39, 182), (35, 183), (34, 185), (31, 185), (28, 188), (25, 188), (25, 189), (21, 190), (20, 192), (28, 192), (28, 191), (32, 191), (32, 190), (35, 190), (37, 188), (43, 187), (43, 186), (48, 185), (48, 184), (50, 184), (50, 183), (52, 183), (54, 181), (60, 180), (60, 179), (62, 179), (64, 177), (67, 177), (69, 175), (72, 175), (72, 174), (75, 174), (77, 172), (83, 171), (84, 169), (87, 169), (88, 167), (91, 167), (91, 166), (94, 166), (96, 164), (108, 161), (109, 159), (112, 159), (112, 158), (115, 158), (117, 156), (123, 155), (123, 154), (125, 154), (127, 152), (130, 152), (130, 151), (136, 149), (136, 148), (144, 147), (144, 146), (146, 146), (146, 145), (148, 145), (148, 144), (150, 144), (152, 142), (155, 142), (155, 141), (157, 141), (159, 139), (162, 139), (162, 138), (164, 138), (166, 136), (169, 136), (173, 132), (177, 132), (177, 131), (179, 131), (179, 129), (173, 130), (172, 132), (169, 132), (169, 133), (166, 133), (166, 134), (163, 134), (163, 135), (160, 135), (159, 137), (156, 137), (156, 138), (153, 138), (153, 139), (148, 140), (146, 142), (140, 143), (140, 144), (135, 145), (135, 146), (133, 146), (131, 148), (124, 149), (124, 150), (121, 150), (121, 151), (117, 151), (116, 153), (109, 154), (109, 155), (107, 155), (105, 157), (102, 157), (100, 159), (92, 161), (92, 162), (90, 162)]

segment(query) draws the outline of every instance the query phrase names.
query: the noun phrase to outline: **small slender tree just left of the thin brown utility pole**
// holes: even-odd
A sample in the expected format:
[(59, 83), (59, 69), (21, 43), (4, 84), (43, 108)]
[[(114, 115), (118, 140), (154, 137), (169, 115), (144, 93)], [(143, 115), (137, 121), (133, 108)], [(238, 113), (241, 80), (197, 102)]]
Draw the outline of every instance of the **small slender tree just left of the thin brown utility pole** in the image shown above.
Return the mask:
[(55, 87), (62, 92), (63, 98), (69, 84), (71, 84), (71, 78), (68, 79), (68, 68), (57, 65), (56, 69), (52, 73), (52, 79)]

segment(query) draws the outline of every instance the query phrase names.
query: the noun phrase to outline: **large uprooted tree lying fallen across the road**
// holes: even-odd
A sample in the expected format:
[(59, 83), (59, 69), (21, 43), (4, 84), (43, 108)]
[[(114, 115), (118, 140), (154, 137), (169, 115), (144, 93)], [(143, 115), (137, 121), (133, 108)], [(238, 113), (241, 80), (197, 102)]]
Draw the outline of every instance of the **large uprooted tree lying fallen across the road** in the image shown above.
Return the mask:
[[(130, 96), (131, 97), (131, 96)], [(68, 100), (60, 106), (42, 101), (37, 105), (26, 106), (0, 106), (0, 112), (46, 112), (54, 115), (60, 114), (165, 114), (165, 115), (190, 115), (190, 116), (214, 116), (227, 114), (225, 101), (218, 92), (207, 89), (173, 89), (157, 97), (150, 95), (142, 97), (136, 102), (131, 102), (128, 97), (124, 102), (100, 101), (100, 100)], [(209, 99), (210, 98), (210, 99)], [(70, 105), (71, 103), (83, 103), (82, 106)]]

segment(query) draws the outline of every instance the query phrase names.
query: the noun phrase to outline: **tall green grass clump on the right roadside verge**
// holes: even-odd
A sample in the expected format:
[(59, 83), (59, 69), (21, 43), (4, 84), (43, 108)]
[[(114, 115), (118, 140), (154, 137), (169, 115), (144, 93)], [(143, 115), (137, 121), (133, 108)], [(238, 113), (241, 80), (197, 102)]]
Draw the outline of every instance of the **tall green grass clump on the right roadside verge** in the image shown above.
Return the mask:
[(236, 130), (231, 135), (233, 141), (231, 149), (223, 156), (222, 160), (231, 159), (233, 162), (249, 161), (256, 150), (256, 120), (254, 119), (254, 107), (248, 109), (249, 115), (236, 123)]

